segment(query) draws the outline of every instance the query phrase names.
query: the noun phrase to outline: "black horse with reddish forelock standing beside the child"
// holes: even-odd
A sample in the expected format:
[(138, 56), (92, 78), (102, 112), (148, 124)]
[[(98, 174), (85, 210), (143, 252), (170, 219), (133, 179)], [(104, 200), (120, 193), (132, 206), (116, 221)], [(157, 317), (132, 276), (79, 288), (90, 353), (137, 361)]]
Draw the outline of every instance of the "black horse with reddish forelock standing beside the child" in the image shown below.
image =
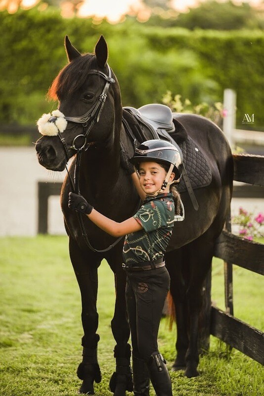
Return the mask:
[[(65, 47), (69, 63), (53, 81), (49, 96), (59, 101), (58, 109), (66, 115), (64, 119), (68, 123), (65, 131), (54, 136), (42, 136), (38, 140), (38, 160), (47, 169), (62, 171), (68, 159), (76, 154), (76, 148), (82, 147), (80, 172), (75, 174), (81, 194), (99, 212), (121, 222), (135, 213), (140, 202), (131, 177), (120, 163), (121, 144), (131, 156), (134, 149), (122, 123), (121, 94), (117, 78), (107, 64), (107, 45), (101, 37), (95, 54), (81, 55), (66, 36)], [(173, 370), (185, 368), (185, 375), (194, 377), (198, 375), (202, 287), (211, 266), (215, 241), (230, 208), (233, 161), (223, 133), (213, 122), (193, 114), (175, 114), (174, 123), (175, 139), (177, 131), (188, 134), (196, 149), (203, 152), (211, 172), (210, 183), (195, 190), (199, 210), (194, 210), (188, 193), (181, 193), (185, 220), (175, 223), (166, 253), (171, 295), (176, 305), (177, 355)], [(153, 138), (149, 131), (145, 137), (145, 140)], [(69, 171), (72, 179), (75, 164), (76, 156)], [(77, 213), (68, 208), (68, 194), (72, 188), (73, 183), (66, 176), (61, 207), (69, 236), (70, 257), (82, 297), (84, 352), (78, 368), (78, 376), (83, 380), (80, 392), (93, 394), (93, 382), (101, 379), (97, 361), (99, 335), (96, 334), (97, 268), (105, 258), (114, 273), (116, 288), (111, 327), (116, 341), (114, 356), (117, 369), (111, 378), (110, 389), (115, 396), (122, 396), (126, 390), (132, 390), (128, 345), (130, 329), (125, 304), (126, 274), (122, 269), (123, 239), (109, 248), (115, 239), (86, 216), (81, 219), (81, 227)]]

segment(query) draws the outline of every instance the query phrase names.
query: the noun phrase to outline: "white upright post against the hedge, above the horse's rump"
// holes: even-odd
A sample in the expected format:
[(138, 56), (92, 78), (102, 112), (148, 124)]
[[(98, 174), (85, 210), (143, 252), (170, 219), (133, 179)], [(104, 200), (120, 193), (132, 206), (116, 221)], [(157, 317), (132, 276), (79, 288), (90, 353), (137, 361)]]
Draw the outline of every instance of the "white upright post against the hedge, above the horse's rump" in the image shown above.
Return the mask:
[(236, 93), (233, 90), (225, 89), (223, 92), (223, 133), (229, 145), (233, 145), (233, 130), (236, 127)]

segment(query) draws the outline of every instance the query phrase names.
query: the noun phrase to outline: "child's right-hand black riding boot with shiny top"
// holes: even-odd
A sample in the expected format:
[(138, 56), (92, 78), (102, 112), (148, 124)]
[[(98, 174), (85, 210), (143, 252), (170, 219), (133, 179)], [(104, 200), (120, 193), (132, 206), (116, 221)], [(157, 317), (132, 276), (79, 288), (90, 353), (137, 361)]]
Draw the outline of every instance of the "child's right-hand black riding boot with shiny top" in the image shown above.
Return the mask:
[(173, 396), (172, 381), (165, 363), (160, 352), (152, 353), (147, 363), (156, 396)]

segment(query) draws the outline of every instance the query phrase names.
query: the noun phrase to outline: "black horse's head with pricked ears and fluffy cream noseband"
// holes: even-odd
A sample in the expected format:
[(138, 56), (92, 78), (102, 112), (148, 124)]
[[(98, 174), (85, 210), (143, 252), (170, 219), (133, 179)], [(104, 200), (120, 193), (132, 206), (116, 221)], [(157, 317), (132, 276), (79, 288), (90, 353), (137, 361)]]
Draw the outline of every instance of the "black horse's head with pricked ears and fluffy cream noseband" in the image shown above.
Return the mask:
[[(107, 64), (103, 36), (95, 54), (82, 55), (65, 38), (69, 63), (53, 81), (48, 97), (58, 100), (58, 109), (38, 121), (42, 138), (36, 144), (38, 160), (47, 169), (62, 171), (78, 149), (113, 142), (115, 126), (122, 119), (120, 90)], [(118, 128), (117, 128), (118, 129)]]

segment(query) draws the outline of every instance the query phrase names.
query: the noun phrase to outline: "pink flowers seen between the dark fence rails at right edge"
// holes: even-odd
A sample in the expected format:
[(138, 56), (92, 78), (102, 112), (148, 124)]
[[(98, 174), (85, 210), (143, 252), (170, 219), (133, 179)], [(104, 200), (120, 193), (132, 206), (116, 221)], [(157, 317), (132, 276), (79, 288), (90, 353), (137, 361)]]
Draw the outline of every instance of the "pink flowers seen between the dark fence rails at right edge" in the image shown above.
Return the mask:
[(238, 225), (238, 235), (253, 241), (254, 238), (264, 237), (264, 213), (257, 216), (247, 212), (242, 207), (239, 208), (238, 216), (232, 217), (232, 223)]

